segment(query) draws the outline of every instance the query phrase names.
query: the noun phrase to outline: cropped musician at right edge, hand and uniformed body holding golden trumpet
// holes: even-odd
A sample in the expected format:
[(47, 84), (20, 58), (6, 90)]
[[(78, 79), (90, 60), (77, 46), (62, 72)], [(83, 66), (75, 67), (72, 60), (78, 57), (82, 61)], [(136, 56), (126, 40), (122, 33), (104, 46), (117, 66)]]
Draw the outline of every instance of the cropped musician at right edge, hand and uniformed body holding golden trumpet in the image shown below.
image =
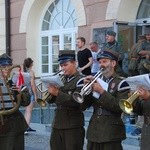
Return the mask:
[(149, 150), (150, 147), (150, 92), (143, 87), (138, 88), (139, 99), (133, 103), (133, 111), (144, 116), (141, 133), (140, 150)]

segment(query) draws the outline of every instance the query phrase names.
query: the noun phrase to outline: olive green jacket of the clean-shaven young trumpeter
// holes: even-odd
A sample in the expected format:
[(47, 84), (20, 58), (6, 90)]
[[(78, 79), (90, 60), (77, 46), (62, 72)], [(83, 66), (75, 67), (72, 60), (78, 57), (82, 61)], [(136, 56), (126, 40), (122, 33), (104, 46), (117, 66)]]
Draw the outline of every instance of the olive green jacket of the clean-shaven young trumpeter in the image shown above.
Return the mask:
[(84, 116), (80, 104), (77, 103), (72, 94), (80, 91), (76, 83), (82, 76), (77, 72), (70, 81), (65, 81), (64, 86), (60, 88), (57, 97), (53, 97), (50, 103), (57, 105), (55, 117), (52, 124), (56, 129), (71, 129), (84, 126)]

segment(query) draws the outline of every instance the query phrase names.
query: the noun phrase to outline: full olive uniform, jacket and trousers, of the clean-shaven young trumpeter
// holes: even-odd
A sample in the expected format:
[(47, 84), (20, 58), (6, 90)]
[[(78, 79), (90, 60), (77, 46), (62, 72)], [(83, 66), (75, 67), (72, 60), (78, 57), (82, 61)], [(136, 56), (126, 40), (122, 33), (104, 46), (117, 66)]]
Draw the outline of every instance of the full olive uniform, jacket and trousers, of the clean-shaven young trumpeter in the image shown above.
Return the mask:
[[(50, 102), (55, 102), (57, 105), (50, 140), (52, 150), (83, 149), (84, 116), (80, 104), (75, 102), (72, 97), (73, 92), (77, 90), (76, 83), (80, 78), (81, 75), (76, 73), (70, 80), (66, 79), (65, 85), (60, 88), (58, 96)], [(62, 141), (60, 141), (61, 138)], [(68, 144), (65, 144), (66, 141)]]

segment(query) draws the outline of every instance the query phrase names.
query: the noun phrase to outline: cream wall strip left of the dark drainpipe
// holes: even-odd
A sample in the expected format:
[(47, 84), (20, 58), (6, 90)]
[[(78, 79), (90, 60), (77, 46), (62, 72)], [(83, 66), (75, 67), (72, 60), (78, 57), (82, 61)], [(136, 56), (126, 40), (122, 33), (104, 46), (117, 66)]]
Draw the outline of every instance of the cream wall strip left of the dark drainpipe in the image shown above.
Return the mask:
[(6, 52), (5, 0), (0, 0), (0, 55)]

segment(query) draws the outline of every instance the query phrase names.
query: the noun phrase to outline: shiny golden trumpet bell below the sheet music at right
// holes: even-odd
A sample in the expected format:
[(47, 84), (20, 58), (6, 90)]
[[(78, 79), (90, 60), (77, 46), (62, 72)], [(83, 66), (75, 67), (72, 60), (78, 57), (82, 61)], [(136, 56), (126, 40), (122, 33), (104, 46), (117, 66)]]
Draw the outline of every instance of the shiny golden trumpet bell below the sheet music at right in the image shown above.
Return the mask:
[(119, 106), (123, 112), (131, 114), (133, 111), (133, 102), (139, 97), (138, 91), (135, 91), (128, 99), (122, 99), (119, 101)]

